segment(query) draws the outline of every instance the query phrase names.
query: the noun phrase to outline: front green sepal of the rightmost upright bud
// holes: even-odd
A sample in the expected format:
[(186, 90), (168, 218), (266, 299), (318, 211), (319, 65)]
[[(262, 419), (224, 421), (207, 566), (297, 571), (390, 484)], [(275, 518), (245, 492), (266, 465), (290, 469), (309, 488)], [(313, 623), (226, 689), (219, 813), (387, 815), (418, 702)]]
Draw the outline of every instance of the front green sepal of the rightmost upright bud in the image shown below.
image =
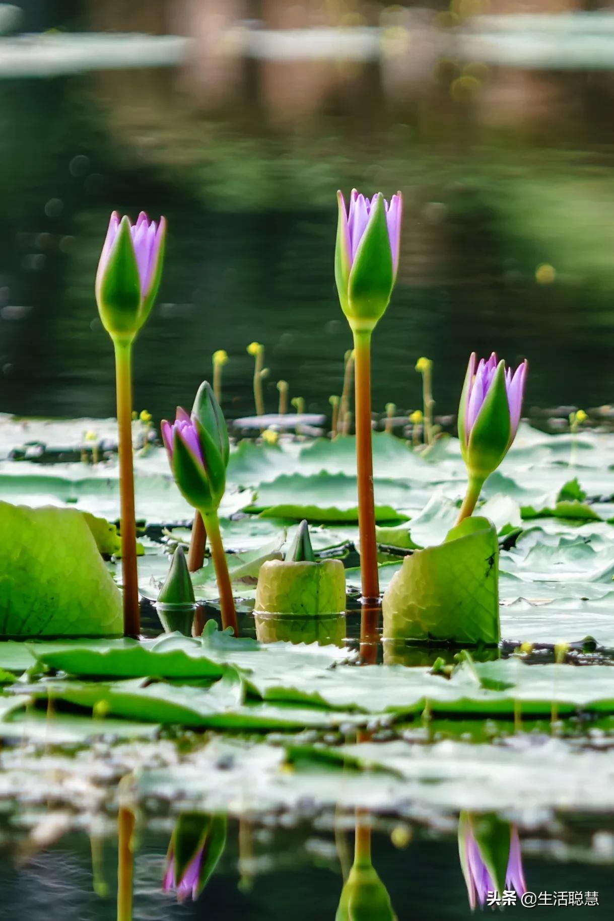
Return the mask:
[(469, 474), (481, 480), (490, 476), (507, 454), (511, 437), (512, 421), (505, 385), (505, 362), (500, 361), (478, 418), (469, 433), (465, 454)]

